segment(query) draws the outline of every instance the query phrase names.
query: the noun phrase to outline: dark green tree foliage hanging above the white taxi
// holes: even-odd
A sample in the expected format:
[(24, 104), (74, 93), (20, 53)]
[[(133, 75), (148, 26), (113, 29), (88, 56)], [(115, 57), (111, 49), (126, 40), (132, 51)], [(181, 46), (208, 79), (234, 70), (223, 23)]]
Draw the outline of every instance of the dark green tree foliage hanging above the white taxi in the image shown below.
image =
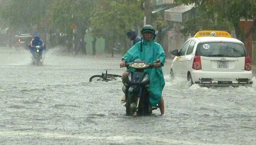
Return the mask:
[[(180, 4), (195, 4), (197, 14), (184, 25), (183, 34), (194, 34), (204, 29), (221, 29), (230, 31), (235, 29), (236, 36), (244, 40), (240, 29), (240, 19), (256, 17), (256, 0), (175, 0)], [(254, 24), (255, 26), (255, 24)]]

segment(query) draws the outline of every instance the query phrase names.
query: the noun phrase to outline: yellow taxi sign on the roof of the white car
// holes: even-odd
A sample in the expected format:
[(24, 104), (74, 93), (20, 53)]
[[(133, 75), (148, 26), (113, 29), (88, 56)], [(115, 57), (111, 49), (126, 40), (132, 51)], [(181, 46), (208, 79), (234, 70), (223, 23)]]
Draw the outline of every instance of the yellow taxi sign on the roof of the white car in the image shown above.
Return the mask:
[(212, 31), (212, 30), (199, 31), (196, 33), (196, 35), (194, 37), (206, 37), (206, 36), (232, 38), (231, 35), (226, 31)]

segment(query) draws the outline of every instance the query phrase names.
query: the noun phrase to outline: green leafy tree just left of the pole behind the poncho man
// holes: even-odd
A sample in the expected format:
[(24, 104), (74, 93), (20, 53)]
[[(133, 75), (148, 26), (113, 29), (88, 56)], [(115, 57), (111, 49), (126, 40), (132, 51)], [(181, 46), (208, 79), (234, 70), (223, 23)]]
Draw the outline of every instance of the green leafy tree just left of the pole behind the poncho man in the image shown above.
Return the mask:
[(143, 0), (98, 0), (90, 18), (92, 34), (105, 38), (108, 52), (112, 52), (117, 42), (126, 39), (126, 31), (142, 23)]

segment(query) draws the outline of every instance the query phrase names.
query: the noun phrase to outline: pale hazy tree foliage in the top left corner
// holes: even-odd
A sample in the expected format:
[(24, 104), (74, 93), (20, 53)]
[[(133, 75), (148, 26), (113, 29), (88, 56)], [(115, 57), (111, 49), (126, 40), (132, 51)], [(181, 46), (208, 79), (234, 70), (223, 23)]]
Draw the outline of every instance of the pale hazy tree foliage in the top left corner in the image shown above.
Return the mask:
[(50, 0), (8, 0), (0, 16), (6, 20), (12, 31), (26, 30), (31, 26), (40, 26), (46, 16), (46, 6)]

